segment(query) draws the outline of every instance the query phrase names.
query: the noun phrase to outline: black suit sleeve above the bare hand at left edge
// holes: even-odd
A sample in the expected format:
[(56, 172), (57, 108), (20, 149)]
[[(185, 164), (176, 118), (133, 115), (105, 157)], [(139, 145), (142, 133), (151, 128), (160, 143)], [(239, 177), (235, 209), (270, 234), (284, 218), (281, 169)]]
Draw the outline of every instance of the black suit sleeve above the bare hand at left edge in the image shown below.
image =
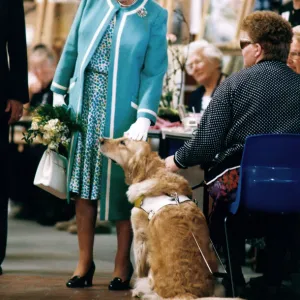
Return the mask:
[(25, 17), (22, 0), (8, 1), (9, 3), (9, 32), (7, 52), (9, 57), (8, 99), (27, 103), (28, 68), (27, 45), (25, 32)]

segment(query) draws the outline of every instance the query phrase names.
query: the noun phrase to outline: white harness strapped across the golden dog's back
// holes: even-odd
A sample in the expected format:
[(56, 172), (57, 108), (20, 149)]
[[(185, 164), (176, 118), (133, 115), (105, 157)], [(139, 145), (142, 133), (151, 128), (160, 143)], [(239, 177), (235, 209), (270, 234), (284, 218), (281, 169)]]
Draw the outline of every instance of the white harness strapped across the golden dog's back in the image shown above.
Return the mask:
[(192, 201), (190, 198), (184, 195), (175, 196), (157, 196), (157, 197), (139, 197), (134, 201), (134, 206), (141, 208), (148, 214), (148, 220), (151, 220), (153, 216), (163, 207), (167, 205), (179, 205), (180, 203)]

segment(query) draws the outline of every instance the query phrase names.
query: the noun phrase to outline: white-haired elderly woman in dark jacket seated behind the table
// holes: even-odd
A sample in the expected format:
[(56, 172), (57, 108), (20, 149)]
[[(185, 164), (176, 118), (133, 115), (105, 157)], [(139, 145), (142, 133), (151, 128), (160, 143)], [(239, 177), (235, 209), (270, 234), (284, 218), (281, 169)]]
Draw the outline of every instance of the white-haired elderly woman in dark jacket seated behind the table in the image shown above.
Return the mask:
[(216, 87), (225, 79), (222, 73), (222, 52), (205, 40), (190, 43), (185, 49), (186, 71), (200, 87), (191, 93), (189, 110), (203, 112)]

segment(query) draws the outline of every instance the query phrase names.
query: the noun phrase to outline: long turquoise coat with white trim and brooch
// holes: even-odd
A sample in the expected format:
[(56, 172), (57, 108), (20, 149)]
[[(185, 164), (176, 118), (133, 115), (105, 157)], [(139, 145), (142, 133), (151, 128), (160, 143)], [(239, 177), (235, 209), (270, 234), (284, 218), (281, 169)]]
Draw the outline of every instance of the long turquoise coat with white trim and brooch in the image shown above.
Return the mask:
[[(116, 0), (81, 0), (51, 86), (69, 96), (76, 117), (82, 108), (85, 69), (112, 18), (116, 18), (110, 54), (105, 137), (117, 138), (138, 117), (154, 124), (167, 70), (167, 11), (153, 0), (121, 7)], [(77, 134), (72, 137), (68, 186)], [(101, 219), (125, 220), (130, 205), (121, 168), (103, 160)]]

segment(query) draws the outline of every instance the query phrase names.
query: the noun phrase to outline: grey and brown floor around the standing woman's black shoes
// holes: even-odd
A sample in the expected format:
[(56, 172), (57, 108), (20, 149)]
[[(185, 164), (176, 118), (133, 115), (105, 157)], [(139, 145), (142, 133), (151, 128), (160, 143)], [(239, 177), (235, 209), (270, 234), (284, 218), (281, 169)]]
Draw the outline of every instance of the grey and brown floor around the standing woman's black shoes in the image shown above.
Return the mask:
[[(77, 262), (77, 236), (35, 222), (9, 220), (7, 256), (0, 276), (0, 300), (126, 300), (130, 292), (111, 292), (115, 233), (96, 235), (94, 286), (68, 289)], [(246, 277), (253, 276), (245, 269)]]

